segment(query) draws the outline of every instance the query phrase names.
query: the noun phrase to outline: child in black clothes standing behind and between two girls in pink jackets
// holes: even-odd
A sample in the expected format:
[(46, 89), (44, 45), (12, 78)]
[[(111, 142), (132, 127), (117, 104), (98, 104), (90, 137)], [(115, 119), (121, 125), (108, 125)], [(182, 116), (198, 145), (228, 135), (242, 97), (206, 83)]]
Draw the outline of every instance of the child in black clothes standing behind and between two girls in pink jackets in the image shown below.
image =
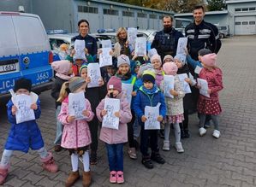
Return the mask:
[[(87, 77), (87, 66), (83, 65), (80, 67), (80, 77), (86, 80), (86, 84), (91, 82), (90, 77)], [(103, 79), (98, 80), (99, 87), (93, 88), (86, 88), (85, 96), (86, 99), (89, 100), (92, 107), (92, 112), (96, 114), (96, 108), (98, 103), (104, 98), (106, 93), (104, 88), (104, 81)], [(91, 165), (97, 164), (97, 150), (98, 150), (98, 118), (94, 115), (93, 119), (88, 122), (90, 127), (91, 136), (92, 136), (92, 144), (90, 145), (91, 148), (91, 156), (90, 156), (90, 163)]]

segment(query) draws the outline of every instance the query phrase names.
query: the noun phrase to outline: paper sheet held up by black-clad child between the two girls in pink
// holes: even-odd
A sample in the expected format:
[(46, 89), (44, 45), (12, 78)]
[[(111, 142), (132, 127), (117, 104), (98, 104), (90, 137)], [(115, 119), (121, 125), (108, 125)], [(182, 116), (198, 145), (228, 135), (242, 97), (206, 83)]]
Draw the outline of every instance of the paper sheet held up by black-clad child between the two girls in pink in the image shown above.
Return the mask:
[(88, 77), (91, 78), (91, 82), (88, 83), (87, 87), (98, 87), (98, 80), (101, 79), (101, 73), (98, 63), (89, 63), (87, 67)]

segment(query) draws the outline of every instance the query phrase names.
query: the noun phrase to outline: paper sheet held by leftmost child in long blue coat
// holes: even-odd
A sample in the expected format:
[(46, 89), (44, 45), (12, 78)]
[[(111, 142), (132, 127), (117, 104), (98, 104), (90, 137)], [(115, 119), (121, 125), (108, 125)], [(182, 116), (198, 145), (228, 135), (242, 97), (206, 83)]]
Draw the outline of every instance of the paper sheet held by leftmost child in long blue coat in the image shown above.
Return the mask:
[(32, 98), (24, 94), (15, 95), (15, 106), (17, 108), (15, 118), (16, 123), (22, 123), (29, 120), (35, 120), (33, 109), (31, 109)]

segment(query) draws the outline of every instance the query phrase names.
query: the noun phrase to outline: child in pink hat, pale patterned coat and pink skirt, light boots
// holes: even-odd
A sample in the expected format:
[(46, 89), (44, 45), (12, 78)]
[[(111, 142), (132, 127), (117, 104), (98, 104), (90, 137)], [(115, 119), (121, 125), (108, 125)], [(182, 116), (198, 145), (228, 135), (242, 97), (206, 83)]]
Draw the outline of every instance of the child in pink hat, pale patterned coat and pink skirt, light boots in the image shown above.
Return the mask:
[[(178, 71), (178, 67), (175, 62), (165, 62), (163, 65), (164, 73), (167, 75), (173, 75), (175, 77), (174, 80), (174, 90), (170, 90), (170, 94), (174, 96), (174, 98), (165, 96), (165, 102), (167, 106), (167, 114), (166, 114), (166, 123), (164, 126), (164, 146), (163, 150), (170, 150), (170, 124), (173, 124), (176, 143), (175, 148), (178, 153), (184, 152), (181, 143), (181, 129), (179, 123), (182, 123), (184, 120), (183, 116), (183, 97), (185, 93), (182, 88), (182, 82), (180, 81), (178, 75), (176, 74)], [(164, 91), (164, 81), (161, 84), (161, 90)]]

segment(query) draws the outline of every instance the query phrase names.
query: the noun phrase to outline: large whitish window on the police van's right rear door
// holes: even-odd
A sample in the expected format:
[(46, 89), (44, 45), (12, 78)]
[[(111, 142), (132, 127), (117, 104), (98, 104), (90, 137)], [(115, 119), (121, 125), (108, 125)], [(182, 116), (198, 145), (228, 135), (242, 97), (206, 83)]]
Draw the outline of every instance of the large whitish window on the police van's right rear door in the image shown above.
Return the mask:
[(22, 52), (29, 52), (27, 50), (47, 50), (49, 41), (45, 35), (45, 29), (37, 17), (14, 16), (15, 32), (17, 35), (17, 42)]

